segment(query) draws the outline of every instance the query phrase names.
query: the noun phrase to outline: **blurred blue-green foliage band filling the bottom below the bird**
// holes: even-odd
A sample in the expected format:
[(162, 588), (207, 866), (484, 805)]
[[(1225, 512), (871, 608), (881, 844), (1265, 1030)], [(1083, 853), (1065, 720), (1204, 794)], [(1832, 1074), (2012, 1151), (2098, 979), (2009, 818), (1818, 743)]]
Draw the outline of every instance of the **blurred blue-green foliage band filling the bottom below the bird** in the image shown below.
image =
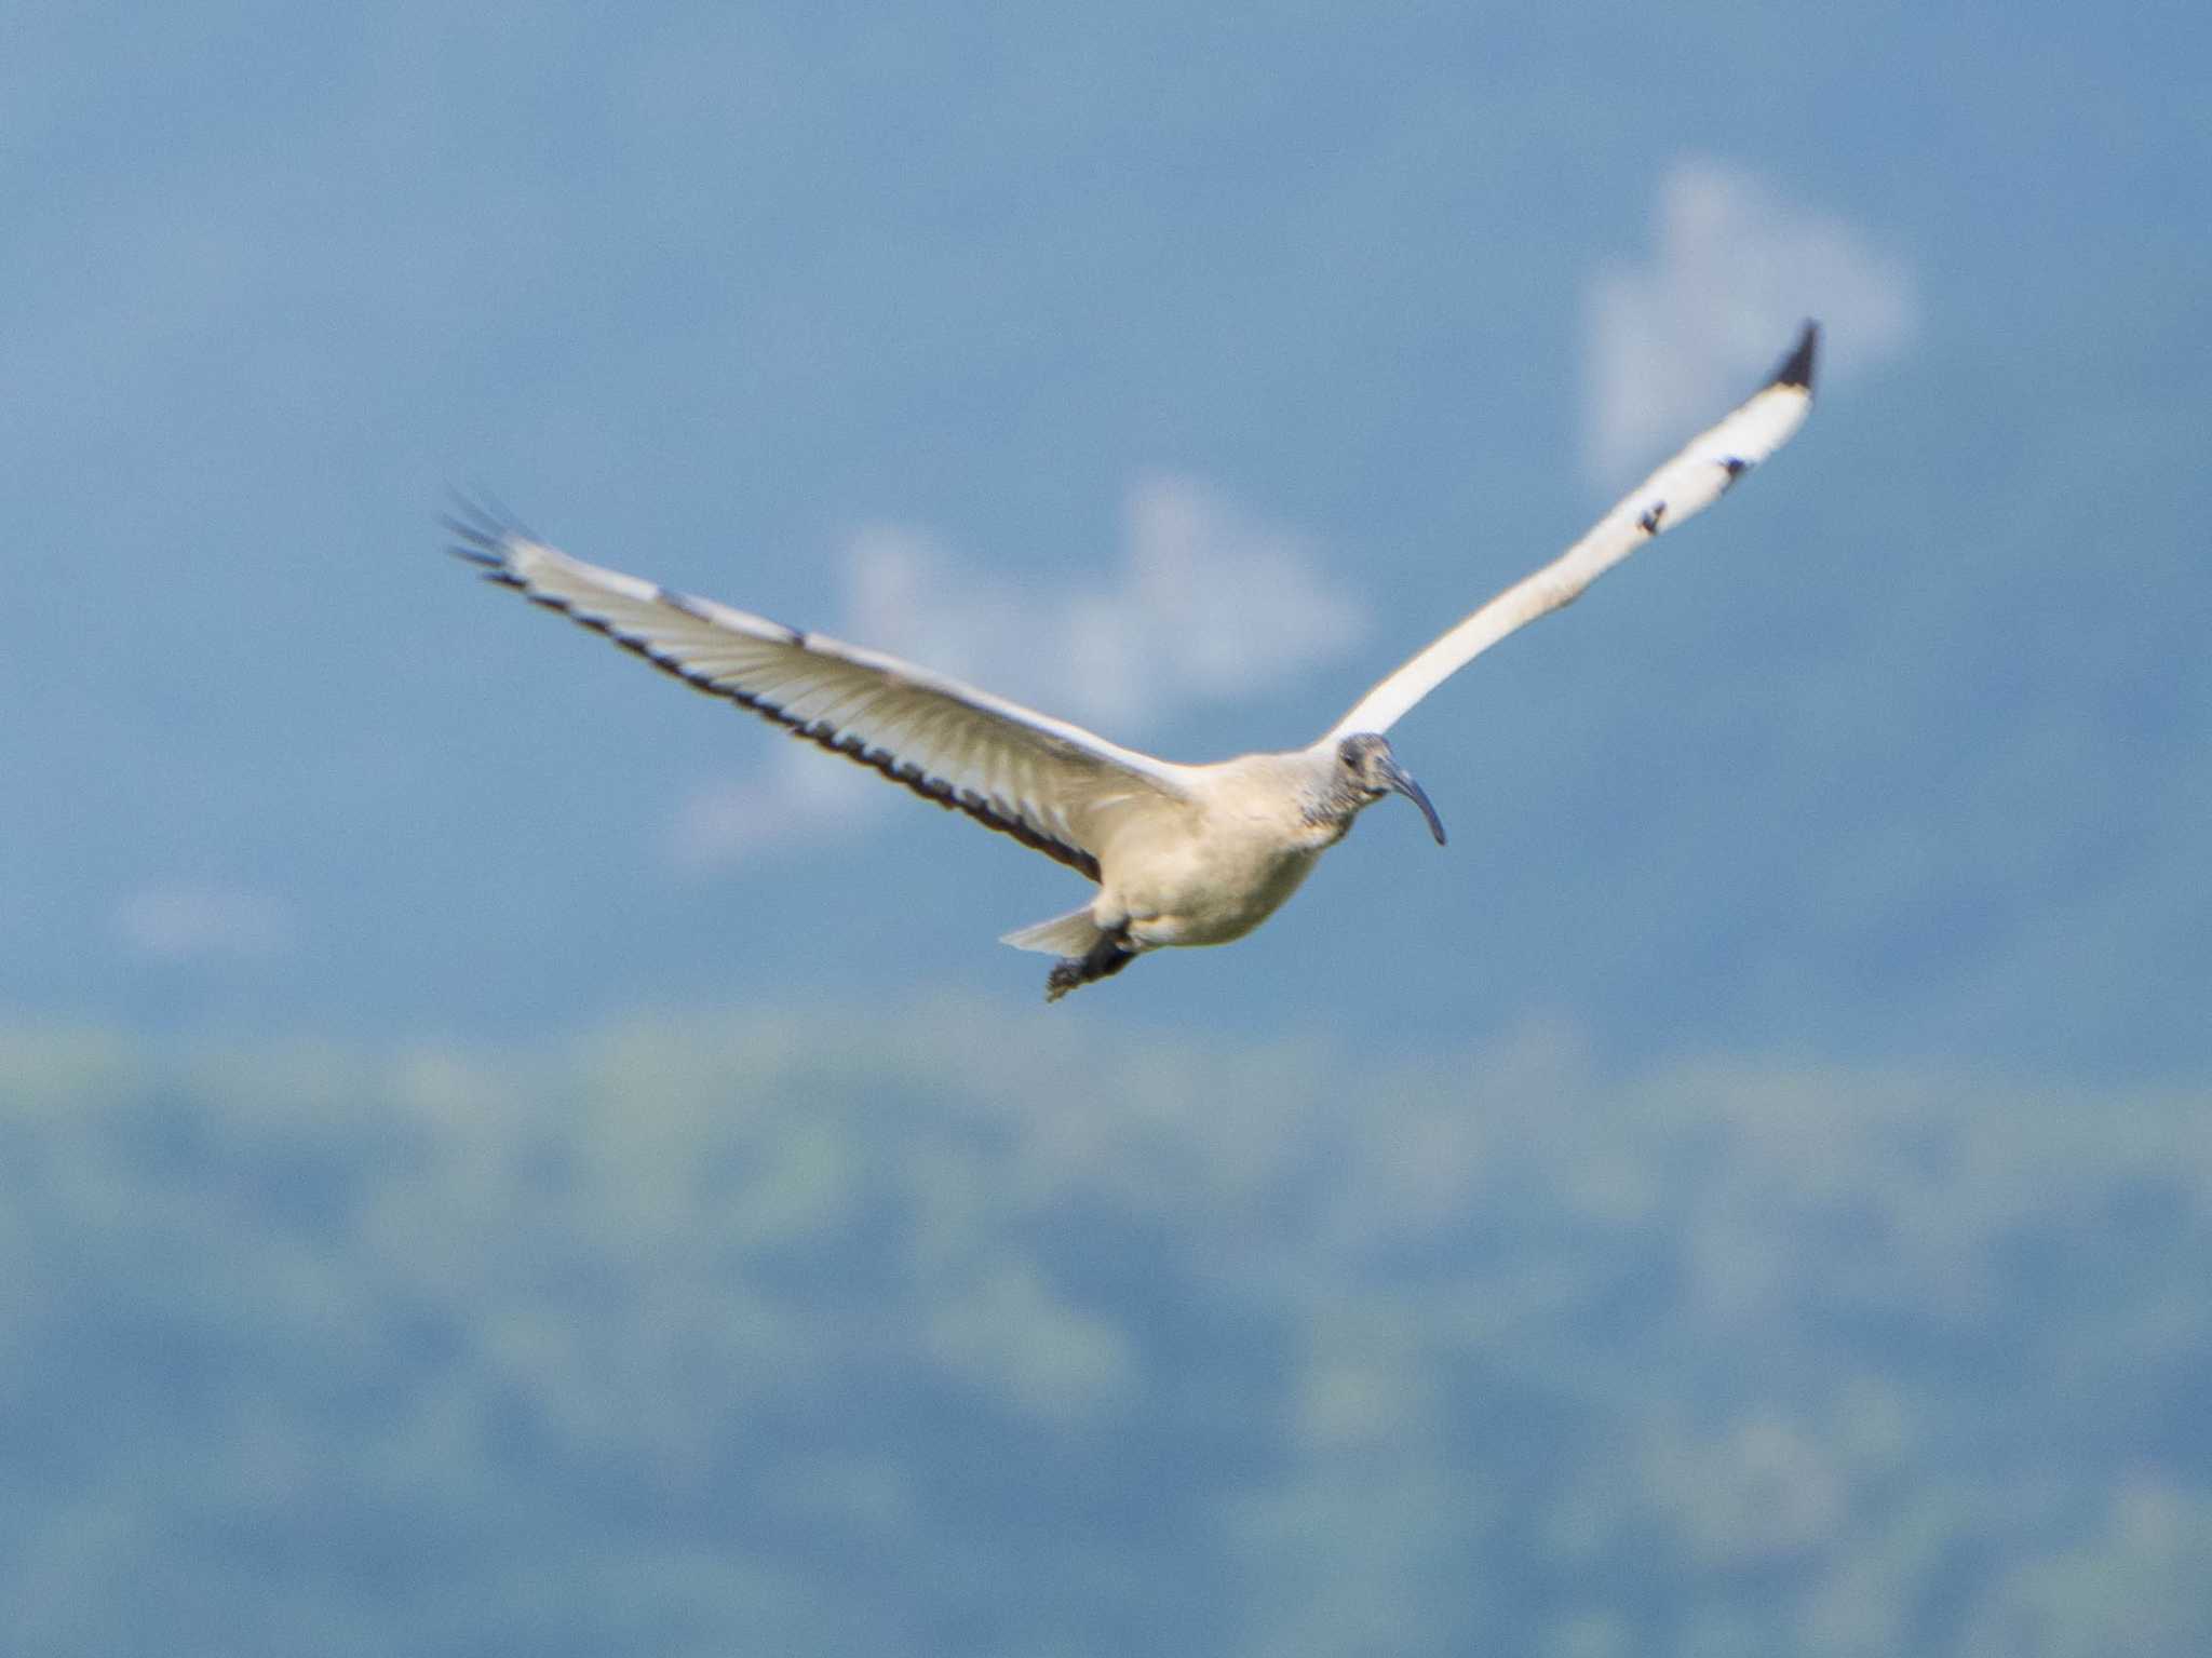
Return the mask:
[(0, 1032), (38, 1654), (2212, 1651), (2212, 1099)]

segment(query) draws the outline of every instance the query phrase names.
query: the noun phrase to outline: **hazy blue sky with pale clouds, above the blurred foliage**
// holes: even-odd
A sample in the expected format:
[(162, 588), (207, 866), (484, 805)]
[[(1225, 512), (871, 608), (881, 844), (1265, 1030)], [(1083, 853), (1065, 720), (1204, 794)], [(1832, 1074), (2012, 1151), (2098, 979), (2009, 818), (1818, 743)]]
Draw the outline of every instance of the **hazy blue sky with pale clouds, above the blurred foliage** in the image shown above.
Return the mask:
[[(533, 1032), (958, 988), (2205, 1070), (2194, 9), (7, 33), (22, 1017)], [(1400, 730), (1447, 853), (1374, 814), (1256, 937), (1051, 1012), (993, 940), (1066, 871), (841, 791), (436, 550), (445, 484), (482, 484), (1175, 758), (1303, 743), (1801, 314), (1834, 363), (1801, 440)]]

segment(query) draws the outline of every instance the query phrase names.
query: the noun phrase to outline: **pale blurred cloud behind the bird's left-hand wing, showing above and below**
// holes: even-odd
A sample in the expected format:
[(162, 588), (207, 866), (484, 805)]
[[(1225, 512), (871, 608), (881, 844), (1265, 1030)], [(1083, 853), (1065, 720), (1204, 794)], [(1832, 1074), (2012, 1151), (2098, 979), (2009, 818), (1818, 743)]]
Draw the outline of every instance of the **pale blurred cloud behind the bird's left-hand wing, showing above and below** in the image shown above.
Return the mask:
[[(845, 548), (827, 632), (956, 674), (1048, 714), (1133, 738), (1170, 710), (1252, 696), (1345, 654), (1367, 606), (1325, 577), (1296, 531), (1190, 478), (1139, 480), (1121, 562), (1102, 579), (1009, 581), (929, 535), (872, 524)], [(688, 869), (852, 836), (898, 796), (812, 747), (695, 791), (668, 836)]]

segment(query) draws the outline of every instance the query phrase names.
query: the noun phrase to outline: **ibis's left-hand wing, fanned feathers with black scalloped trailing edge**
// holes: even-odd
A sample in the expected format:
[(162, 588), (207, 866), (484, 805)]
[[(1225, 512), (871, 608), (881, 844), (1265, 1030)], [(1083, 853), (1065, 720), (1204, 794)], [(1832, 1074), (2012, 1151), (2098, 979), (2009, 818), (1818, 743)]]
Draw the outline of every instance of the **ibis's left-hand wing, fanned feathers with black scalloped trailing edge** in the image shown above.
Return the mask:
[(1091, 880), (1121, 814), (1188, 798), (1181, 767), (896, 657), (602, 570), (480, 511), (447, 528), (491, 581)]

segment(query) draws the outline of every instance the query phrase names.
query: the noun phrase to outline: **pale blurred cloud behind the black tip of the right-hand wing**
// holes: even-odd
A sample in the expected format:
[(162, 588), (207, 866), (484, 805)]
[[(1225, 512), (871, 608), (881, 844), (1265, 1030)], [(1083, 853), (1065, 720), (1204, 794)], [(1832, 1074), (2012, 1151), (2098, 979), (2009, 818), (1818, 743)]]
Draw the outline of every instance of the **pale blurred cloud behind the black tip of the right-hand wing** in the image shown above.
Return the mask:
[(1823, 380), (1849, 378), (1918, 332), (1911, 270), (1743, 168), (1677, 161), (1650, 261), (1590, 281), (1588, 473), (1610, 489), (1663, 460), (1750, 391), (1807, 316), (1823, 325)]

